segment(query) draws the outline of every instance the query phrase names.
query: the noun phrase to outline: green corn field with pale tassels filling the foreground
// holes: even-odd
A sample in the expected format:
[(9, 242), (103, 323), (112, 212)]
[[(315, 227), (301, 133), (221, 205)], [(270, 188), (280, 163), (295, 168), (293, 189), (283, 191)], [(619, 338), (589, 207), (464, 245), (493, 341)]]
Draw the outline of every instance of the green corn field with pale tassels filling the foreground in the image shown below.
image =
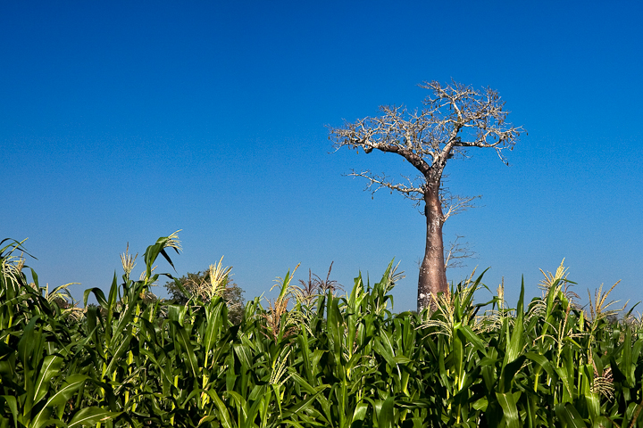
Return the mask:
[(527, 305), (524, 287), (515, 309), (502, 287), (475, 303), (479, 276), (419, 315), (391, 313), (392, 263), (342, 297), (288, 272), (234, 325), (216, 276), (207, 299), (145, 299), (179, 248), (159, 238), (138, 281), (124, 255), (121, 280), (79, 309), (0, 243), (0, 426), (643, 426), (641, 320), (611, 323), (600, 290), (578, 309), (562, 266)]

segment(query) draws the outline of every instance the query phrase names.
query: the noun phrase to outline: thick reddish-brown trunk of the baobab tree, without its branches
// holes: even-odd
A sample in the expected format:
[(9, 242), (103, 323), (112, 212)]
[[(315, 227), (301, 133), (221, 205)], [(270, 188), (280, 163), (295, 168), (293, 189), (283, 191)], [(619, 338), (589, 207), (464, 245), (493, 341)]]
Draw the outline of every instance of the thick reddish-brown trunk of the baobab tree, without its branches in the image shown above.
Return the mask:
[(424, 189), (424, 212), (427, 221), (426, 250), (420, 267), (418, 281), (418, 313), (430, 308), (430, 294), (448, 292), (447, 272), (444, 266), (444, 243), (442, 241), (442, 225), (444, 216), (442, 204), (439, 200), (439, 185), (437, 182), (427, 181)]

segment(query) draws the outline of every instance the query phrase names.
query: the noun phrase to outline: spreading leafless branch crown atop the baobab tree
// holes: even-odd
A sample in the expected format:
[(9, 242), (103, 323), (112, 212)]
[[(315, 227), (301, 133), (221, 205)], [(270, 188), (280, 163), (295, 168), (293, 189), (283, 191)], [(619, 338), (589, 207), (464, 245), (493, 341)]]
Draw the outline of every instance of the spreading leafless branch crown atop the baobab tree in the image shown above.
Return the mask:
[(439, 178), (459, 148), (493, 148), (507, 164), (503, 151), (512, 150), (524, 132), (506, 123), (508, 111), (497, 91), (474, 90), (452, 82), (420, 85), (431, 95), (424, 99), (422, 111), (407, 111), (400, 106), (380, 106), (380, 116), (345, 121), (341, 128), (330, 128), (335, 148), (348, 146), (359, 152), (373, 150), (397, 153), (424, 177)]

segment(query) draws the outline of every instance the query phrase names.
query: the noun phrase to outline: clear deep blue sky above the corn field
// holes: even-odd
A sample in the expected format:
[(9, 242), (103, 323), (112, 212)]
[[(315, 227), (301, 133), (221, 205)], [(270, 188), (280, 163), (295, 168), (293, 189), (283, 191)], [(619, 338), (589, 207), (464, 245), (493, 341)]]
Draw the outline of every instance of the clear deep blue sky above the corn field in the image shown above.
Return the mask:
[(642, 21), (634, 1), (4, 2), (0, 238), (29, 238), (41, 283), (77, 297), (177, 229), (178, 273), (225, 255), (246, 298), (297, 263), (334, 260), (350, 287), (395, 257), (413, 309), (424, 218), (342, 177), (409, 166), (332, 152), (325, 125), (454, 78), (497, 89), (529, 136), (509, 168), (483, 149), (447, 166), (483, 196), (445, 226), (479, 254), (449, 279), (490, 268), (514, 304), (566, 258), (584, 301), (619, 279), (614, 298), (643, 300)]

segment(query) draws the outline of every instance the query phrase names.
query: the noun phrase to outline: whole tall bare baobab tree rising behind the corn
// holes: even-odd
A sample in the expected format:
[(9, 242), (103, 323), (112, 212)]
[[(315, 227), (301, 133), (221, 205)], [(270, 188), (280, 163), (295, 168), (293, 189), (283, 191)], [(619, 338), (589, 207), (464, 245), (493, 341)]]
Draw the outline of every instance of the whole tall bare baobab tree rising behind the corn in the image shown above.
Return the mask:
[(388, 188), (419, 204), (423, 202), (427, 232), (418, 280), (418, 312), (430, 307), (431, 293), (448, 292), (442, 226), (472, 201), (444, 192), (442, 178), (447, 161), (465, 155), (470, 147), (487, 147), (508, 165), (504, 151), (512, 150), (524, 132), (506, 121), (505, 103), (493, 89), (476, 90), (455, 81), (446, 86), (436, 81), (420, 86), (430, 91), (420, 111), (381, 106), (378, 117), (345, 121), (341, 128), (330, 128), (330, 140), (337, 149), (347, 146), (357, 152), (396, 153), (420, 173), (415, 178), (405, 177), (405, 182), (368, 170), (349, 174), (367, 178), (373, 193)]

